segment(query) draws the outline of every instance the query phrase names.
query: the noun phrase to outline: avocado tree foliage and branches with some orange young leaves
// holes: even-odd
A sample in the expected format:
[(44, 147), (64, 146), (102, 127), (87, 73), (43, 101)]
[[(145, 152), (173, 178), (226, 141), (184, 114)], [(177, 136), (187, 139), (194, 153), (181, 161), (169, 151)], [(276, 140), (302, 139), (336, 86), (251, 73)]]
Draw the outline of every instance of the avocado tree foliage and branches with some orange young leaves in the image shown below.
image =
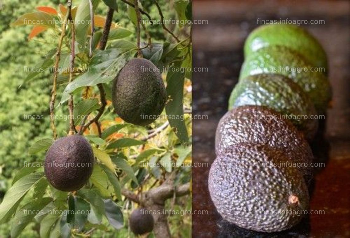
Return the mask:
[[(174, 12), (167, 16), (163, 9), (170, 8), (169, 4)], [(106, 17), (96, 14), (98, 8), (107, 12)], [(127, 11), (128, 21), (133, 24), (130, 29), (113, 21), (113, 15), (122, 10)], [(168, 24), (168, 17), (177, 21)], [(30, 38), (51, 31), (52, 41), (57, 43), (34, 66), (51, 70), (47, 79), (52, 82), (50, 114), (45, 118), (50, 120), (52, 138), (33, 141), (28, 148), (29, 156), (45, 152), (46, 160), (55, 156), (52, 162), (56, 166), (47, 169), (42, 156), (38, 161), (24, 162), (13, 177), (0, 204), (0, 222), (11, 224), (11, 237), (18, 237), (29, 225), (40, 237), (100, 237), (106, 232), (113, 237), (133, 236), (127, 217), (135, 207), (153, 216), (153, 232), (144, 229), (149, 236), (180, 235), (172, 229), (166, 210), (191, 208), (191, 168), (184, 166), (191, 162), (192, 48), (190, 24), (186, 21), (190, 19), (188, 0), (167, 4), (157, 0), (68, 0), (66, 6), (59, 4), (57, 9), (39, 6), (12, 23), (33, 25)], [(157, 27), (162, 29), (162, 36), (157, 38), (164, 40), (155, 42), (153, 32)], [(129, 107), (139, 109), (143, 104), (115, 108), (125, 105), (114, 103), (113, 98), (118, 86), (113, 81), (134, 58), (155, 65), (166, 85), (165, 110), (155, 115), (156, 120), (141, 126), (128, 123), (116, 112), (127, 114)], [(24, 84), (30, 84), (41, 72), (28, 73)], [(144, 82), (134, 83), (139, 84), (141, 94), (147, 92), (142, 89)], [(141, 95), (147, 102), (154, 101), (150, 97)], [(73, 142), (59, 146), (59, 138)], [(53, 151), (53, 147), (58, 149)], [(85, 181), (82, 178), (86, 174), (70, 170), (62, 164), (62, 158), (84, 162), (90, 147), (94, 162), (91, 176)], [(74, 148), (78, 149), (70, 153)], [(69, 177), (82, 185), (71, 186), (70, 181), (65, 187)], [(187, 198), (181, 200), (182, 196)], [(186, 221), (181, 218), (181, 222)], [(190, 221), (186, 225), (190, 229)], [(190, 236), (188, 230), (181, 236)]]

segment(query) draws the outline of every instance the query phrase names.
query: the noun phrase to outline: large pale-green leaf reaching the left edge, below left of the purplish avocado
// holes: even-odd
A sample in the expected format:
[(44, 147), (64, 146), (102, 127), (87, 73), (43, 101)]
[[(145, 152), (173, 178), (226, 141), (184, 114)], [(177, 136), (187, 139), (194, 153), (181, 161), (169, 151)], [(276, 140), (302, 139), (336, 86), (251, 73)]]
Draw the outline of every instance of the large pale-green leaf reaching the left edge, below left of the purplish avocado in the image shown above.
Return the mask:
[(33, 173), (22, 177), (13, 184), (0, 204), (0, 224), (8, 221), (10, 216), (16, 211), (22, 198), (40, 179), (44, 179), (43, 173)]

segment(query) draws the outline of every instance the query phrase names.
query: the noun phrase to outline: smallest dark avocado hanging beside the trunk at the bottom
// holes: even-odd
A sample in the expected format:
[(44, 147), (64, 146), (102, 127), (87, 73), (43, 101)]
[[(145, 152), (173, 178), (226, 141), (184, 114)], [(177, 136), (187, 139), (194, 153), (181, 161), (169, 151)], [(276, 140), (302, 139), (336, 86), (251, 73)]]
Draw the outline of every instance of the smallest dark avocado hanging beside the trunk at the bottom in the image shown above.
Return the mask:
[(130, 215), (129, 225), (135, 235), (143, 235), (153, 231), (154, 219), (145, 208), (137, 208)]

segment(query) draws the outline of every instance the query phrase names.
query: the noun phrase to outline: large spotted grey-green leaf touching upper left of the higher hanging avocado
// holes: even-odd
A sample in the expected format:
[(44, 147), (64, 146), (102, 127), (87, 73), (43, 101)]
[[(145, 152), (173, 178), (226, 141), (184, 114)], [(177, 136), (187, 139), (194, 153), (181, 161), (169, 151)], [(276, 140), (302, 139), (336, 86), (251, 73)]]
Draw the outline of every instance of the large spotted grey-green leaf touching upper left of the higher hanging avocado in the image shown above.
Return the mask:
[[(108, 83), (112, 81), (118, 75), (119, 70), (124, 67), (128, 59), (130, 59), (134, 54), (135, 53), (133, 50), (129, 50), (121, 53), (117, 58), (93, 65), (91, 67), (91, 71), (87, 71), (83, 75), (78, 76), (73, 82), (66, 86), (62, 93), (62, 98), (59, 105), (66, 102), (66, 100), (69, 99), (69, 94), (79, 87), (94, 86), (99, 83)], [(92, 62), (96, 62), (96, 60)]]

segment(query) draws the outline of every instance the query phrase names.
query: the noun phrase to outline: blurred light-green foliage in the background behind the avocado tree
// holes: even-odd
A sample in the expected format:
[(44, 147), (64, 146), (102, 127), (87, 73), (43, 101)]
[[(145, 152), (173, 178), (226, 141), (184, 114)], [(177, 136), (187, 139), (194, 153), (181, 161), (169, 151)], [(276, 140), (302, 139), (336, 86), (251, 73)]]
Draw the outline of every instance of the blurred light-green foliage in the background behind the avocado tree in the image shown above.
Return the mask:
[[(73, 5), (78, 5), (80, 1), (73, 1)], [(135, 26), (128, 18), (127, 7), (121, 1), (118, 2), (119, 12), (114, 14), (113, 20), (131, 31), (135, 31)], [(152, 19), (160, 20), (157, 9), (152, 6), (153, 1), (141, 0), (143, 8)], [(158, 1), (163, 9), (163, 14), (168, 18), (174, 18), (175, 11), (172, 8), (172, 1)], [(34, 141), (43, 137), (52, 137), (49, 120), (26, 119), (25, 115), (50, 114), (49, 100), (52, 87), (52, 74), (49, 72), (40, 73), (38, 77), (26, 82), (19, 87), (28, 72), (24, 67), (33, 67), (42, 60), (45, 54), (52, 48), (57, 47), (58, 35), (53, 31), (45, 31), (40, 35), (28, 40), (31, 31), (30, 26), (11, 27), (19, 16), (34, 12), (38, 6), (51, 6), (55, 9), (58, 4), (66, 4), (66, 1), (54, 0), (0, 0), (0, 201), (10, 187), (12, 178), (23, 162), (43, 161), (44, 152), (29, 155), (28, 148)], [(100, 4), (96, 14), (105, 17), (107, 7)], [(171, 28), (172, 26), (170, 26)], [(153, 42), (164, 41), (165, 34), (161, 25), (147, 26), (152, 36)], [(172, 30), (175, 30), (173, 28)], [(142, 37), (145, 39), (145, 35)], [(135, 35), (132, 34), (127, 40), (135, 42)], [(188, 84), (190, 85), (190, 83)], [(65, 85), (59, 86), (58, 95), (63, 91)], [(190, 101), (191, 95), (187, 95)], [(59, 98), (58, 98), (59, 102)], [(56, 115), (67, 115), (66, 107), (59, 107)], [(64, 121), (56, 121), (58, 132), (65, 130), (67, 124)], [(60, 135), (62, 136), (62, 134)], [(174, 135), (173, 135), (174, 136)], [(175, 136), (174, 136), (175, 137)], [(166, 138), (168, 140), (168, 138)], [(181, 210), (191, 210), (191, 199), (188, 196), (180, 198)], [(179, 204), (179, 203), (178, 203)], [(170, 204), (167, 201), (166, 208), (179, 210), (179, 205)], [(127, 218), (127, 217), (126, 217)], [(175, 237), (191, 236), (191, 215), (171, 215), (168, 218), (170, 230)], [(0, 226), (0, 237), (9, 237), (9, 225)], [(37, 224), (29, 225), (22, 236), (35, 237), (38, 230)], [(114, 228), (110, 227), (111, 233), (96, 233), (96, 237), (116, 237)], [(118, 237), (130, 235), (127, 229), (118, 231)]]

